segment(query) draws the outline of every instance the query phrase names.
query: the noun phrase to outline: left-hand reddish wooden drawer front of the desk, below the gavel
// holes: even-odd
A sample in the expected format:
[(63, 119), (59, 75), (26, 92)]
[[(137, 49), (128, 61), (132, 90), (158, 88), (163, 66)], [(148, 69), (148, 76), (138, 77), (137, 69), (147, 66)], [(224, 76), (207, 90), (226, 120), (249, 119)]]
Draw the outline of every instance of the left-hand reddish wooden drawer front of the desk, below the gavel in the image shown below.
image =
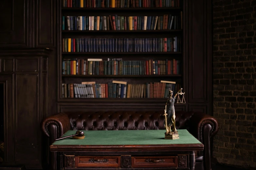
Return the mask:
[(75, 156), (75, 167), (121, 167), (121, 156)]

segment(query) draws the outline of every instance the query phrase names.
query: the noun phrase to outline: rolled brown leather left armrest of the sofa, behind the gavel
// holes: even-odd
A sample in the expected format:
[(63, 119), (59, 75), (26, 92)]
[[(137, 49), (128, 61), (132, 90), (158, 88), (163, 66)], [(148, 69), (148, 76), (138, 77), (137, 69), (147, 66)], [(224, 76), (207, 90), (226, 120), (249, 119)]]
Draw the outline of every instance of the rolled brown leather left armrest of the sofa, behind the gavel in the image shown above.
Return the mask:
[(66, 113), (59, 113), (58, 115), (49, 116), (46, 119), (42, 121), (42, 131), (45, 135), (48, 137), (51, 137), (53, 134), (52, 130), (50, 130), (52, 127), (55, 127), (57, 130), (57, 134), (55, 134), (57, 137), (62, 136), (65, 132), (70, 130), (70, 122), (69, 117)]

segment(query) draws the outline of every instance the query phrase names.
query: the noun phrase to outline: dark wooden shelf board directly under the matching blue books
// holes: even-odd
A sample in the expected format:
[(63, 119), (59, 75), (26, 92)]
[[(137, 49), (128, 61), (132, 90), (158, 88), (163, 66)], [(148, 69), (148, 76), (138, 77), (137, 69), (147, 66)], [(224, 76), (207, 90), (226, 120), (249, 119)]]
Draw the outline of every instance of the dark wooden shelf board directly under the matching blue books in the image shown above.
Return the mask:
[(181, 52), (62, 52), (62, 55), (98, 55), (98, 54), (104, 54), (104, 55), (128, 55), (128, 54), (181, 54)]

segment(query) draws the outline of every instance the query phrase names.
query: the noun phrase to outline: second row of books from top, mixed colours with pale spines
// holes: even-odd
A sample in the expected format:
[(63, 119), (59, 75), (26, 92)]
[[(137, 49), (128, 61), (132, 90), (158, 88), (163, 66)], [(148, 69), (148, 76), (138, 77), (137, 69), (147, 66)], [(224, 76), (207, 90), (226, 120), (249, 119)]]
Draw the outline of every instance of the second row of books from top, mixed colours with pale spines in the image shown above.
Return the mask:
[(171, 30), (182, 29), (179, 16), (62, 16), (62, 30)]

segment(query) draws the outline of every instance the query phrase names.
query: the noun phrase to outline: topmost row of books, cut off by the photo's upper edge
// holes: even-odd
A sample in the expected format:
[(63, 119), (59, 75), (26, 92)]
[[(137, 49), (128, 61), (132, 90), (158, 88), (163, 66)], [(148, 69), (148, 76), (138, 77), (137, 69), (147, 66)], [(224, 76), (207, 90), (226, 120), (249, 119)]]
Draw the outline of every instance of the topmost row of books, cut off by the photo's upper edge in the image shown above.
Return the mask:
[(136, 8), (180, 7), (179, 0), (62, 0), (62, 7)]

